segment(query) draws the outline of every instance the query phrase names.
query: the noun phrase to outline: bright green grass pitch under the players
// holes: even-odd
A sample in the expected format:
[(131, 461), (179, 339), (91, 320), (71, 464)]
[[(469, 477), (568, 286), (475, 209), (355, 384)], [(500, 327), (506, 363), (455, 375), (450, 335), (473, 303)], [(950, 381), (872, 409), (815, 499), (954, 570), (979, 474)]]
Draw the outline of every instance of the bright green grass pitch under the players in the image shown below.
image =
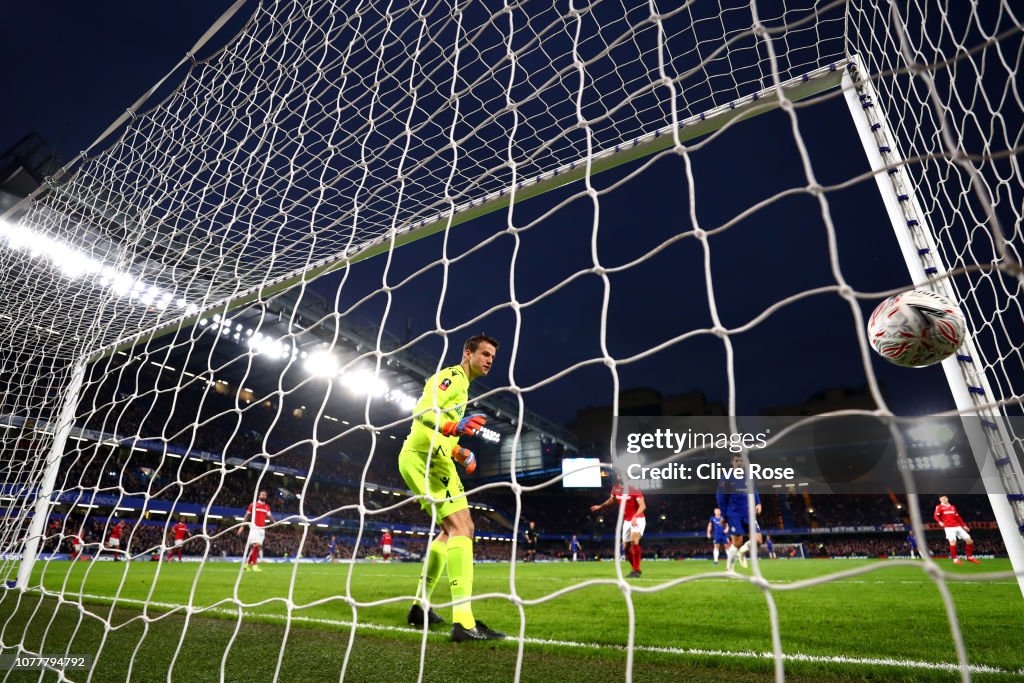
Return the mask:
[[(258, 574), (239, 565), (50, 562), (37, 565), (34, 584), (61, 592), (68, 602), (38, 592), (0, 594), (0, 643), (34, 651), (97, 655), (93, 681), (337, 680), (352, 630), (349, 600), (360, 603), (345, 670), (346, 680), (416, 680), (422, 634), (404, 627), (408, 600), (378, 605), (414, 591), (416, 564), (263, 564)], [(524, 604), (521, 679), (593, 682), (624, 678), (628, 595), (635, 608), (633, 679), (762, 681), (773, 678), (769, 603), (753, 583), (729, 580), (710, 562), (646, 562), (640, 589), (589, 585), (539, 604)], [(955, 577), (1007, 571), (1009, 562), (943, 564)], [(786, 587), (837, 571), (869, 571), (798, 590)], [(475, 593), (510, 592), (508, 564), (476, 566)], [(920, 663), (954, 664), (949, 624), (936, 584), (919, 566), (885, 561), (763, 562), (773, 589), (788, 680), (959, 679), (956, 671)], [(711, 572), (715, 573), (711, 573)], [(680, 579), (695, 578), (678, 585)], [(582, 582), (614, 579), (600, 563), (517, 564), (515, 592), (539, 600)], [(1024, 678), (1024, 598), (1012, 579), (948, 583), (975, 680)], [(660, 590), (653, 590), (660, 589)], [(652, 591), (652, 592), (647, 592)], [(117, 600), (114, 600), (117, 596)], [(287, 598), (292, 602), (291, 618)], [(435, 601), (449, 600), (446, 588)], [(236, 601), (241, 601), (238, 606)], [(81, 604), (78, 604), (78, 603)], [(186, 610), (182, 605), (190, 604)], [(204, 609), (205, 608), (205, 609)], [(445, 617), (450, 609), (440, 610)], [(507, 597), (474, 602), (492, 628), (517, 634), (519, 610)], [(513, 678), (517, 641), (455, 645), (446, 632), (426, 640), (424, 680), (494, 681)], [(226, 654), (225, 654), (226, 653)], [(838, 661), (834, 657), (851, 657)], [(909, 666), (880, 659), (909, 660)], [(912, 664), (919, 663), (919, 664)], [(68, 672), (85, 680), (88, 672)], [(20, 678), (19, 678), (20, 676)], [(38, 680), (14, 674), (6, 680)], [(56, 680), (55, 677), (47, 680)]]

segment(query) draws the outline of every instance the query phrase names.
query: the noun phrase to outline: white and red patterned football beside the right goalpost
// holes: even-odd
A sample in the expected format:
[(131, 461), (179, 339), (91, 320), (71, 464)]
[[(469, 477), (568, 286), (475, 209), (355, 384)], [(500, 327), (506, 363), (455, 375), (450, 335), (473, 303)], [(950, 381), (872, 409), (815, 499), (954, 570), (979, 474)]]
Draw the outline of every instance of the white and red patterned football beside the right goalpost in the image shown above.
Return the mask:
[(867, 322), (867, 339), (885, 359), (924, 368), (956, 352), (967, 335), (952, 301), (929, 290), (910, 290), (879, 304)]

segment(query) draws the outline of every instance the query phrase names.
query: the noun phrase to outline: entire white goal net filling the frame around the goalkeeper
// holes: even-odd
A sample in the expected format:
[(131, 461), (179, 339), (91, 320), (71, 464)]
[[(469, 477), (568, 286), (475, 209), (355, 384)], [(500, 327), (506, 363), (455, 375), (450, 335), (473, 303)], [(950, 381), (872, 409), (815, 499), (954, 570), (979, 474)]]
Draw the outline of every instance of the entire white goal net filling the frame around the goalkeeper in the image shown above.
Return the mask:
[[(561, 482), (539, 473), (562, 456), (612, 462), (611, 416), (714, 414), (716, 401), (731, 417), (974, 419), (957, 458), (985, 474), (984, 514), (1012, 563), (912, 566), (949, 633), (925, 665), (979, 671), (969, 645), (985, 634), (965, 633), (952, 580), (1024, 587), (1014, 3), (251, 11), (0, 219), (3, 654), (91, 657), (71, 678), (170, 678), (216, 643), (211, 678), (248, 671), (262, 648), (259, 675), (288, 680), (308, 665), (293, 630), (327, 629), (346, 634), (331, 676), (370, 675), (356, 634), (372, 633), (415, 643), (403, 672), (430, 678), (437, 639), (404, 627), (439, 520), (397, 457), (425, 381), (482, 330), (501, 345), (463, 407), (488, 428), (463, 439), (478, 462), (463, 478), (474, 557), (507, 565), (500, 579), (477, 569), (471, 604), (500, 614), (516, 679), (537, 645), (620, 648), (630, 679), (658, 645), (644, 600), (690, 582), (630, 583), (616, 562), (524, 588), (526, 520), (542, 519), (542, 544), (578, 529), (545, 527), (561, 523), (545, 519)], [(966, 314), (971, 339), (945, 375), (886, 366), (864, 339), (874, 305), (912, 287)], [(664, 400), (634, 391), (646, 387)], [(913, 480), (900, 514), (925, 538), (935, 501)], [(272, 518), (255, 563), (260, 492)], [(648, 532), (687, 516), (703, 532), (713, 496), (648, 493)], [(761, 493), (780, 519), (784, 496), (797, 500)], [(615, 538), (622, 516), (602, 520), (620, 522)], [(791, 551), (804, 556), (775, 545)], [(773, 583), (764, 557), (751, 553), (746, 574), (762, 591), (762, 650), (718, 639), (675, 654), (697, 667), (765, 656), (777, 679), (829, 660), (786, 638), (782, 596), (881, 565), (794, 585)], [(423, 568), (401, 573), (402, 559)], [(546, 616), (609, 587), (614, 643)], [(447, 618), (449, 594), (432, 600)], [(253, 635), (266, 625), (270, 645)], [(921, 665), (892, 647), (836, 654)], [(1013, 673), (993, 656), (985, 671)]]

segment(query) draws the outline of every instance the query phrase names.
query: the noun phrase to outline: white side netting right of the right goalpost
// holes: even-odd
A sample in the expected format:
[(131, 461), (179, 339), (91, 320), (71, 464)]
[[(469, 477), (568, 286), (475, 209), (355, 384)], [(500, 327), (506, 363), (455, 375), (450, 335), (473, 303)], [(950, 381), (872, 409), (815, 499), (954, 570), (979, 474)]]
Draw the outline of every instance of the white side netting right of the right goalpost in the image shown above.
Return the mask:
[[(883, 148), (920, 160), (894, 175), (903, 219), (929, 276), (945, 281), (963, 302), (977, 364), (966, 369), (974, 402), (995, 415), (1020, 415), (1014, 378), (1021, 356), (1010, 348), (1024, 324), (1021, 285), (1021, 179), (1016, 174), (1024, 106), (1017, 84), (1020, 20), (1009, 6), (947, 13), (927, 4), (877, 12), (852, 7), (848, 50), (863, 55), (892, 127)], [(887, 153), (891, 155), (893, 153)], [(997, 311), (993, 316), (992, 311)], [(984, 414), (984, 409), (983, 413)], [(989, 415), (992, 415), (989, 413)], [(1019, 434), (1001, 421), (993, 436), (1017, 524), (1024, 523)]]

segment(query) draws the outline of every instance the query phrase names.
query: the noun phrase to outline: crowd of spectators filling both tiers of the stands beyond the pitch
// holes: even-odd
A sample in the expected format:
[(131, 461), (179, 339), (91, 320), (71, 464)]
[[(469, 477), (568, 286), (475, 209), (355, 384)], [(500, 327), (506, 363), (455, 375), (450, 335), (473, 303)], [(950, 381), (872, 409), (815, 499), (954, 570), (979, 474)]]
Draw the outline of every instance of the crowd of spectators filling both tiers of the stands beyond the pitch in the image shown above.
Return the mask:
[[(358, 428), (358, 418), (323, 419), (297, 401), (292, 401), (293, 405), (285, 393), (243, 400), (238, 388), (211, 384), (201, 378), (183, 384), (180, 377), (159, 374), (145, 364), (133, 368), (131, 373), (109, 373), (103, 384), (89, 386), (85, 393), (79, 425), (127, 440), (120, 444), (95, 438), (69, 441), (57, 482), (57, 487), (66, 493), (82, 490), (240, 511), (253, 502), (257, 490), (266, 489), (279, 520), (301, 515), (312, 523), (272, 526), (264, 547), (269, 556), (286, 553), (294, 556), (300, 552), (305, 556), (326, 556), (328, 539), (339, 530), (337, 525), (324, 529), (315, 523), (330, 518), (334, 522), (348, 522), (341, 527), (345, 535), (337, 547), (344, 549), (340, 551), (342, 556), (350, 557), (352, 529), (358, 528), (361, 519), (359, 505), (365, 506), (365, 521), (369, 522), (367, 528), (373, 537), (385, 525), (422, 527), (429, 523), (417, 503), (397, 505), (408, 501), (407, 495), (394, 496), (381, 489), (406, 489), (396, 467), (406, 427), (393, 434), (373, 434)], [(145, 447), (132, 447), (131, 439), (142, 441)], [(168, 444), (166, 452), (153, 447), (159, 443)], [(197, 459), (199, 452), (213, 454), (215, 458)], [(280, 472), (247, 466), (252, 463), (288, 467), (302, 474), (279, 476)], [(367, 484), (361, 490), (360, 481)], [(609, 539), (617, 535), (616, 510), (590, 512), (591, 506), (607, 499), (610, 483), (607, 481), (600, 489), (563, 489), (554, 484), (523, 492), (518, 500), (511, 487), (471, 493), (472, 503), (497, 509), (497, 512), (473, 511), (477, 532), (511, 533), (514, 511), (519, 510), (516, 528), (520, 537), (526, 521), (538, 523), (542, 557), (563, 555), (564, 539), (570, 533), (579, 535), (589, 554), (597, 550), (610, 556)], [(886, 556), (905, 552), (905, 533), (896, 530), (908, 523), (907, 501), (903, 497), (764, 495), (762, 503), (762, 528), (769, 533), (773, 529), (809, 529), (804, 536), (777, 539), (803, 542), (810, 556)], [(926, 521), (931, 519), (934, 503), (927, 497), (921, 499), (921, 513)], [(984, 497), (964, 496), (955, 498), (953, 503), (969, 523), (992, 519)], [(712, 494), (647, 496), (645, 554), (679, 558), (708, 555), (709, 544), (705, 539), (679, 536), (702, 533), (714, 507)], [(66, 505), (62, 511), (73, 509)], [(98, 547), (104, 539), (105, 516), (110, 513), (110, 510), (94, 511), (95, 517), (83, 520), (75, 532), (80, 530), (89, 543)], [(186, 521), (197, 533), (203, 532), (195, 520)], [(190, 541), (186, 551), (241, 554), (245, 540), (229, 528), (237, 522), (223, 521), (222, 527), (208, 526), (206, 536)], [(132, 522), (128, 535), (132, 552), (161, 546), (165, 528), (162, 522), (153, 517)], [(67, 540), (73, 526), (62, 524), (63, 531), (51, 539), (50, 549), (61, 536)], [(891, 526), (893, 530), (874, 536), (816, 532), (858, 526)], [(397, 536), (395, 545), (416, 556), (422, 552), (423, 542), (419, 539)], [(929, 538), (929, 543), (935, 546), (935, 555), (946, 552), (939, 533), (935, 539)], [(376, 538), (366, 538), (357, 556), (373, 554), (377, 545)], [(982, 533), (977, 551), (1001, 552), (997, 535)], [(477, 546), (477, 556), (481, 559), (508, 559), (510, 555), (508, 543), (481, 542)]]

